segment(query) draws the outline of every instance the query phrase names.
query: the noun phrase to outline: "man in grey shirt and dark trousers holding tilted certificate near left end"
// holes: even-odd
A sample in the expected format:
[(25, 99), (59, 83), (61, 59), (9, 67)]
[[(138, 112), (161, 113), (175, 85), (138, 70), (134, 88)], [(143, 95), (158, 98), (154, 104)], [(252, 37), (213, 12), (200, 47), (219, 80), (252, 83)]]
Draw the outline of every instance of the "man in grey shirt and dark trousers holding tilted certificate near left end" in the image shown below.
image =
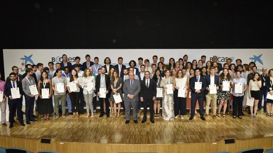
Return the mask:
[[(33, 109), (35, 103), (35, 95), (38, 92), (35, 80), (32, 77), (32, 69), (26, 69), (26, 77), (22, 80), (22, 87), (25, 93), (25, 117), (26, 123), (30, 124), (30, 121), (37, 122), (37, 120), (33, 119)], [(18, 111), (17, 111), (18, 113)]]

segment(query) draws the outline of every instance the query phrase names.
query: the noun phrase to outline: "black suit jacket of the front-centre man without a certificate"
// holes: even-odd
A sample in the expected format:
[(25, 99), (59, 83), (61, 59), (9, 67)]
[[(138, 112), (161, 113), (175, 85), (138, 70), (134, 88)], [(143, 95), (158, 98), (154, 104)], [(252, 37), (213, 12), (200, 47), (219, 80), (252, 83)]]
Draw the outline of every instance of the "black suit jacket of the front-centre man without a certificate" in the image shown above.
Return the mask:
[(153, 79), (150, 79), (150, 84), (147, 89), (146, 87), (146, 79), (140, 82), (140, 97), (143, 99), (153, 99), (156, 97), (156, 82)]

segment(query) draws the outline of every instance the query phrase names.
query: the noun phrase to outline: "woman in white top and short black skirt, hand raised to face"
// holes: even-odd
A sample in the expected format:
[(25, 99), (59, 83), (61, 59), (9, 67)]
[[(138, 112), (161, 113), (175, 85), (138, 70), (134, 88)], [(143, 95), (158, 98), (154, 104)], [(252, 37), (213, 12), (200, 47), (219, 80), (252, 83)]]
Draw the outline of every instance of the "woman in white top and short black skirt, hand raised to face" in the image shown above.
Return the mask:
[[(262, 87), (262, 78), (258, 72), (253, 74), (252, 79), (248, 83), (248, 94), (249, 99), (254, 98), (254, 113), (253, 113), (253, 106), (250, 106), (250, 118), (257, 118), (256, 113), (258, 109), (258, 102), (260, 100), (260, 88)], [(254, 114), (254, 115), (253, 115)]]

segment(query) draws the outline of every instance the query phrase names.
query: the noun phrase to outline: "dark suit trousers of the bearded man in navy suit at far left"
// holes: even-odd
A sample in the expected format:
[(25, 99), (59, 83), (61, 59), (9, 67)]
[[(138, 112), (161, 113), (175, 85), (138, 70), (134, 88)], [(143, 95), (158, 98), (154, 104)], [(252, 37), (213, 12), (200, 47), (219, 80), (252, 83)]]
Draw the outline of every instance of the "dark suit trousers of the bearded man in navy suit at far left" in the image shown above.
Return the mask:
[(15, 122), (13, 112), (17, 109), (17, 117), (20, 123), (23, 123), (23, 113), (22, 113), (22, 101), (20, 99), (8, 100), (9, 105), (9, 122)]

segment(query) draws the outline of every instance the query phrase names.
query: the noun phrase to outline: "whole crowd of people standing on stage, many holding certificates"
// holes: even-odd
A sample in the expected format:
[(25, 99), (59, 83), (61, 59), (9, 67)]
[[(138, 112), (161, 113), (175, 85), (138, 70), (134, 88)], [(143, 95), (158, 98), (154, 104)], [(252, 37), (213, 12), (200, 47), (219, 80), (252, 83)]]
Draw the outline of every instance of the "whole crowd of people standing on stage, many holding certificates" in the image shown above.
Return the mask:
[[(23, 75), (18, 73), (18, 67), (13, 66), (6, 82), (0, 81), (0, 91), (3, 92), (0, 105), (2, 125), (7, 126), (5, 111), (8, 99), (9, 127), (12, 128), (15, 123), (16, 111), (20, 125), (25, 126), (23, 96), (27, 124), (38, 121), (33, 114), (35, 103), (35, 109), (43, 115), (44, 121), (49, 120), (54, 113), (55, 119), (58, 119), (59, 111), (65, 119), (66, 105), (68, 113), (73, 118), (78, 118), (83, 114), (85, 104), (86, 118), (93, 118), (96, 114), (97, 97), (100, 103), (99, 117), (105, 114), (110, 117), (112, 113), (113, 117), (119, 118), (120, 109), (123, 107), (125, 124), (130, 122), (131, 109), (133, 121), (138, 123), (141, 107), (144, 112), (141, 123), (147, 120), (148, 107), (150, 122), (154, 123), (154, 118), (159, 118), (160, 106), (163, 120), (183, 120), (187, 108), (190, 109), (190, 120), (198, 114), (197, 108), (202, 120), (206, 120), (209, 115), (213, 119), (225, 118), (226, 112), (232, 112), (233, 118), (242, 119), (247, 109), (246, 103), (252, 98), (254, 104), (248, 107), (250, 118), (257, 118), (257, 112), (262, 108), (262, 99), (266, 117), (273, 117), (273, 107), (269, 110), (269, 104), (273, 100), (266, 99), (267, 94), (273, 95), (273, 69), (267, 73), (267, 68), (263, 67), (262, 74), (259, 74), (254, 62), (242, 65), (242, 61), (237, 59), (235, 65), (231, 63), (232, 59), (227, 58), (222, 66), (217, 62), (216, 56), (213, 56), (212, 62), (206, 62), (204, 55), (198, 62), (188, 62), (188, 56), (184, 55), (177, 62), (170, 58), (169, 63), (164, 64), (164, 57), (160, 57), (157, 62), (158, 57), (154, 55), (152, 63), (148, 59), (143, 63), (143, 58), (139, 57), (138, 65), (132, 60), (126, 68), (122, 57), (118, 58), (115, 66), (111, 65), (109, 57), (104, 59), (104, 66), (99, 64), (98, 57), (92, 62), (87, 54), (85, 59), (86, 62), (80, 64), (80, 57), (75, 57), (75, 64), (72, 65), (64, 54), (62, 62), (56, 63), (55, 68), (53, 62), (48, 62), (48, 67), (44, 67), (42, 63), (26, 64)], [(38, 92), (34, 92), (36, 90)], [(16, 92), (20, 96), (12, 97)]]

